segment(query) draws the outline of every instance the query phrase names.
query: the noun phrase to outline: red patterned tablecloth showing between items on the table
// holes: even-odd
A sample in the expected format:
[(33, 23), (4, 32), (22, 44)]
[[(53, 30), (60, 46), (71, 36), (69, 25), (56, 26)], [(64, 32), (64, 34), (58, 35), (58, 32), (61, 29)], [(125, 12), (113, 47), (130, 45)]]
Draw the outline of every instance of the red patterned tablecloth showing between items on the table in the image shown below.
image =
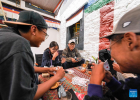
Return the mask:
[[(75, 76), (79, 76), (80, 78), (90, 79), (90, 75), (87, 72), (82, 73), (80, 71), (79, 67), (70, 68), (70, 69), (73, 70), (74, 72), (72, 74), (68, 74), (68, 73), (65, 74), (64, 77), (66, 78), (66, 80), (63, 81), (63, 86), (64, 86), (65, 90), (73, 89), (73, 91), (75, 91), (75, 92), (86, 95), (87, 86), (88, 86), (89, 82), (87, 82), (87, 84), (86, 84), (87, 86), (73, 85), (71, 82), (72, 82), (72, 78)], [(47, 78), (44, 78), (44, 77), (42, 77), (42, 75), (39, 75), (40, 83), (43, 83), (47, 80), (48, 80)], [(103, 88), (103, 90), (106, 90), (106, 89)], [(47, 91), (43, 95), (43, 100), (59, 100), (58, 95), (57, 95), (57, 89)]]

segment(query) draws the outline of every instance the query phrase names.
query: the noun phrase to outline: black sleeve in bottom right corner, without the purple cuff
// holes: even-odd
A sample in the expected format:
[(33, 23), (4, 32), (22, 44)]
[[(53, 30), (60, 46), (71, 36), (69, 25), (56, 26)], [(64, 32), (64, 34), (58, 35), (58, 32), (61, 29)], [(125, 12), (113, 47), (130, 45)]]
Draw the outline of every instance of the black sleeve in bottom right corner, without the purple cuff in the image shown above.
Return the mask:
[[(118, 85), (117, 85), (118, 84)], [(119, 100), (134, 100), (134, 98), (129, 97), (130, 89), (137, 89), (137, 92), (140, 91), (140, 79), (139, 78), (128, 78), (125, 82), (118, 82), (115, 78), (113, 78), (107, 86), (112, 91), (113, 95)], [(135, 98), (135, 100), (140, 100), (139, 96)]]

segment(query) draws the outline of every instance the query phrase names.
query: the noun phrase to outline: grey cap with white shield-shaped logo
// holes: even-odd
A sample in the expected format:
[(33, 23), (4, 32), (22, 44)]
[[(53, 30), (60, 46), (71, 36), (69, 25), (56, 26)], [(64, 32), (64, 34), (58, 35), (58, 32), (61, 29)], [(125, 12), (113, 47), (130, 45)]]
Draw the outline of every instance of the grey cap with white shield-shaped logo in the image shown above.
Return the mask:
[(124, 34), (126, 32), (140, 33), (140, 6), (130, 10), (119, 20), (111, 34), (100, 37), (109, 38), (114, 34)]

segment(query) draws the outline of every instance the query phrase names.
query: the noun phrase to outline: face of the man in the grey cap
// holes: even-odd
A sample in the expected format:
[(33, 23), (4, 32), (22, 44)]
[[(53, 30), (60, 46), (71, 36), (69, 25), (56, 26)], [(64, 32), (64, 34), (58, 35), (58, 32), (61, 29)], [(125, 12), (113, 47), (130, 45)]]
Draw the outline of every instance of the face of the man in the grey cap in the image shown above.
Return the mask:
[(110, 40), (111, 57), (120, 65), (122, 72), (140, 74), (140, 52), (135, 49), (133, 40), (135, 39), (131, 35), (124, 36), (121, 42)]

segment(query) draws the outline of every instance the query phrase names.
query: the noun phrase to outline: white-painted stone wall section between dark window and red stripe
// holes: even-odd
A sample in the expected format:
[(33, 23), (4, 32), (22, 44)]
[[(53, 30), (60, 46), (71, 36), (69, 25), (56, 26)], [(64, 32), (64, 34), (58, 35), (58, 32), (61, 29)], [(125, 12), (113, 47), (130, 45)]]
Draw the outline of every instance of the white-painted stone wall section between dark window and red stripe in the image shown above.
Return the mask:
[(99, 31), (100, 31), (100, 10), (84, 15), (84, 52), (81, 55), (89, 60), (92, 56), (98, 57)]

